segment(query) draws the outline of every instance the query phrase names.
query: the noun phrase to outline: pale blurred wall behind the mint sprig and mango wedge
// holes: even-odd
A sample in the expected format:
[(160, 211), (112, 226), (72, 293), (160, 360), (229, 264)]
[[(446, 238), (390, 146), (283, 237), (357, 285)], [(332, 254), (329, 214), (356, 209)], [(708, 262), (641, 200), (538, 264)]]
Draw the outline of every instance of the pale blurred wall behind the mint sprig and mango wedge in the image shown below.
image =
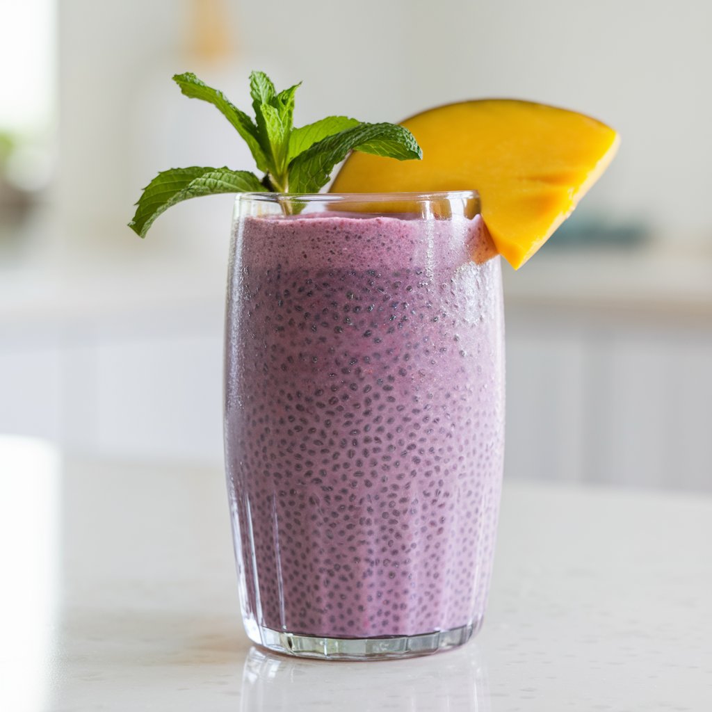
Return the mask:
[[(227, 5), (236, 51), (222, 68), (205, 68), (205, 78), (241, 102), (248, 71), (265, 68), (281, 85), (304, 80), (301, 122), (328, 112), (398, 120), (485, 96), (590, 112), (617, 127), (623, 144), (582, 210), (646, 219), (674, 240), (712, 233), (706, 0)], [(226, 122), (169, 80), (191, 61), (189, 8), (187, 0), (61, 2), (60, 197), (74, 239), (90, 233), (90, 244), (115, 248), (139, 187), (167, 159), (249, 162)], [(172, 122), (182, 130), (171, 133)], [(229, 211), (229, 199), (214, 206)], [(162, 247), (147, 249), (190, 250), (197, 243), (185, 234), (205, 220), (204, 206), (179, 206), (155, 226), (152, 242)]]

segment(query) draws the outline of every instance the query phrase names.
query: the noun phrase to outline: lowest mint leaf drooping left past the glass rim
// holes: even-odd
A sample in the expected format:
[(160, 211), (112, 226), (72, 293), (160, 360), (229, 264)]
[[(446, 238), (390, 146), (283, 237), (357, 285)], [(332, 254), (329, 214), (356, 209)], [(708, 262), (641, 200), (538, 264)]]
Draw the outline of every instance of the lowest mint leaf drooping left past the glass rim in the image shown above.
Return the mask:
[(170, 206), (189, 198), (216, 193), (266, 192), (258, 177), (229, 168), (171, 168), (160, 172), (144, 189), (129, 227), (145, 237), (153, 221)]

